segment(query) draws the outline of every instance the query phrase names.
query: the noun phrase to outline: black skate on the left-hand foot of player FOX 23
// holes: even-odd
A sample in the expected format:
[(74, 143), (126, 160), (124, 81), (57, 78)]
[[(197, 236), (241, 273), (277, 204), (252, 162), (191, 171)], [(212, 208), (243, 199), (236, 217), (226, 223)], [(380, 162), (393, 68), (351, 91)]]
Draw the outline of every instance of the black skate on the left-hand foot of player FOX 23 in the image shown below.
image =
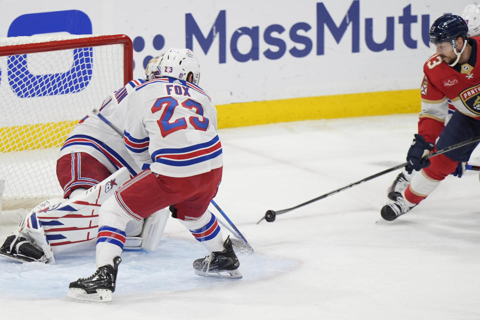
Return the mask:
[(116, 273), (121, 258), (113, 258), (114, 266), (100, 266), (87, 278), (79, 278), (70, 282), (67, 297), (82, 302), (111, 302), (111, 293), (115, 291)]

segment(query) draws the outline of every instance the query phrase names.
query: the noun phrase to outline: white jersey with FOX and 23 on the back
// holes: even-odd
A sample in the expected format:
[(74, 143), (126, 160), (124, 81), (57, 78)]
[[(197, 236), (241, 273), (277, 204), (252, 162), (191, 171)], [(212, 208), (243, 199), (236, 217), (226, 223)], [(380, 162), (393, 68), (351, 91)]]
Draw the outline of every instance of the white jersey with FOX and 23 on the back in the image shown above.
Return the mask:
[(200, 87), (162, 77), (134, 90), (120, 108), (124, 142), (138, 163), (147, 155), (152, 172), (172, 177), (222, 166), (216, 109)]

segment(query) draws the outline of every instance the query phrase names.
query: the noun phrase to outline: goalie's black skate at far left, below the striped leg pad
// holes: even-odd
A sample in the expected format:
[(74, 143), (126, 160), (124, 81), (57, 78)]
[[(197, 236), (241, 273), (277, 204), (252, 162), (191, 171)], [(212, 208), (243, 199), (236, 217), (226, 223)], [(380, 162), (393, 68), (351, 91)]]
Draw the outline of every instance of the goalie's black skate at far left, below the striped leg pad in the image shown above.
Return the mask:
[(46, 262), (43, 251), (34, 246), (28, 239), (19, 235), (7, 236), (0, 247), (0, 256), (17, 262)]

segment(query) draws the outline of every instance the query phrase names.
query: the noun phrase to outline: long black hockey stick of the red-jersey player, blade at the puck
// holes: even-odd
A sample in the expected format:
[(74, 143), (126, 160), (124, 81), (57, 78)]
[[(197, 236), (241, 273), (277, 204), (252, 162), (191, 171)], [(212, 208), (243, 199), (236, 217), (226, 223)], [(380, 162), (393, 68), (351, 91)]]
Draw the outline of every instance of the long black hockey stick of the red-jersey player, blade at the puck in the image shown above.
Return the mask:
[[(435, 152), (431, 152), (431, 153), (425, 155), (423, 158), (424, 158), (424, 159), (428, 159), (428, 158), (431, 158), (432, 156), (435, 156), (435, 155), (438, 155), (438, 154), (442, 154), (442, 153), (448, 152), (448, 151), (450, 151), (450, 150), (453, 150), (453, 149), (456, 149), (456, 148), (465, 146), (465, 145), (470, 144), (470, 143), (478, 142), (478, 141), (480, 141), (480, 136), (477, 136), (477, 137), (474, 137), (474, 138), (465, 140), (465, 141), (463, 141), (463, 142), (458, 142), (458, 143), (456, 143), (456, 144), (447, 146), (447, 147), (445, 147), (445, 148), (443, 148), (443, 149), (440, 149), (440, 150), (437, 150), (437, 151), (435, 151)], [(388, 173), (388, 172), (397, 170), (397, 169), (399, 169), (399, 168), (405, 167), (407, 164), (408, 164), (408, 162), (404, 162), (404, 163), (395, 165), (395, 166), (393, 166), (393, 167), (391, 167), (391, 168), (389, 168), (389, 169), (386, 169), (386, 170), (380, 171), (380, 172), (378, 172), (378, 173), (372, 174), (372, 175), (370, 175), (370, 176), (367, 176), (366, 178), (363, 178), (363, 179), (358, 180), (358, 181), (356, 181), (356, 182), (350, 183), (350, 184), (348, 184), (348, 185), (345, 185), (345, 186), (343, 186), (343, 187), (341, 187), (341, 188), (338, 188), (338, 189), (336, 189), (336, 190), (330, 191), (330, 192), (328, 192), (328, 193), (322, 194), (322, 195), (320, 195), (320, 196), (318, 196), (318, 197), (316, 197), (316, 198), (313, 198), (313, 199), (308, 200), (308, 201), (306, 201), (306, 202), (303, 202), (303, 203), (300, 203), (300, 204), (298, 204), (298, 205), (292, 206), (291, 208), (288, 208), (288, 209), (283, 209), (283, 210), (278, 210), (278, 211), (267, 210), (267, 211), (265, 212), (265, 215), (264, 215), (260, 220), (258, 220), (258, 222), (256, 222), (256, 224), (260, 223), (261, 220), (263, 220), (263, 219), (265, 219), (267, 222), (273, 222), (273, 221), (275, 221), (275, 216), (276, 216), (277, 214), (283, 214), (283, 213), (289, 212), (289, 211), (291, 211), (291, 210), (294, 210), (294, 209), (296, 209), (296, 208), (299, 208), (299, 207), (301, 207), (301, 206), (303, 206), (303, 205), (307, 205), (307, 204), (310, 204), (310, 203), (312, 203), (312, 202), (321, 200), (321, 199), (323, 199), (323, 198), (326, 198), (327, 196), (330, 196), (330, 195), (332, 195), (332, 194), (341, 192), (341, 191), (343, 191), (343, 190), (346, 190), (346, 189), (348, 189), (348, 188), (351, 188), (352, 186), (358, 185), (358, 184), (363, 183), (363, 182), (365, 182), (365, 181), (374, 179), (374, 178), (379, 177), (380, 175), (383, 175), (383, 174), (385, 174), (385, 173)], [(474, 168), (472, 168), (473, 170), (475, 170), (475, 169), (480, 169), (480, 168), (478, 168), (478, 167), (476, 167), (476, 166), (472, 166), (472, 167), (474, 167)]]

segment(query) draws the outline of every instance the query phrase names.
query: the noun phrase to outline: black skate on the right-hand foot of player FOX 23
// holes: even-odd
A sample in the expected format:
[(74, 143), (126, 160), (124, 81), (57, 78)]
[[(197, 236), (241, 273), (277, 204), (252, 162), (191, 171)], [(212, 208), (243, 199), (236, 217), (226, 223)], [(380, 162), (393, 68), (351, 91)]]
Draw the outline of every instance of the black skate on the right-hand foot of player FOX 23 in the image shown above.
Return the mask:
[(193, 261), (195, 273), (202, 276), (241, 278), (238, 271), (240, 262), (233, 251), (230, 236), (223, 242), (223, 247), (222, 251), (213, 251), (205, 258)]

